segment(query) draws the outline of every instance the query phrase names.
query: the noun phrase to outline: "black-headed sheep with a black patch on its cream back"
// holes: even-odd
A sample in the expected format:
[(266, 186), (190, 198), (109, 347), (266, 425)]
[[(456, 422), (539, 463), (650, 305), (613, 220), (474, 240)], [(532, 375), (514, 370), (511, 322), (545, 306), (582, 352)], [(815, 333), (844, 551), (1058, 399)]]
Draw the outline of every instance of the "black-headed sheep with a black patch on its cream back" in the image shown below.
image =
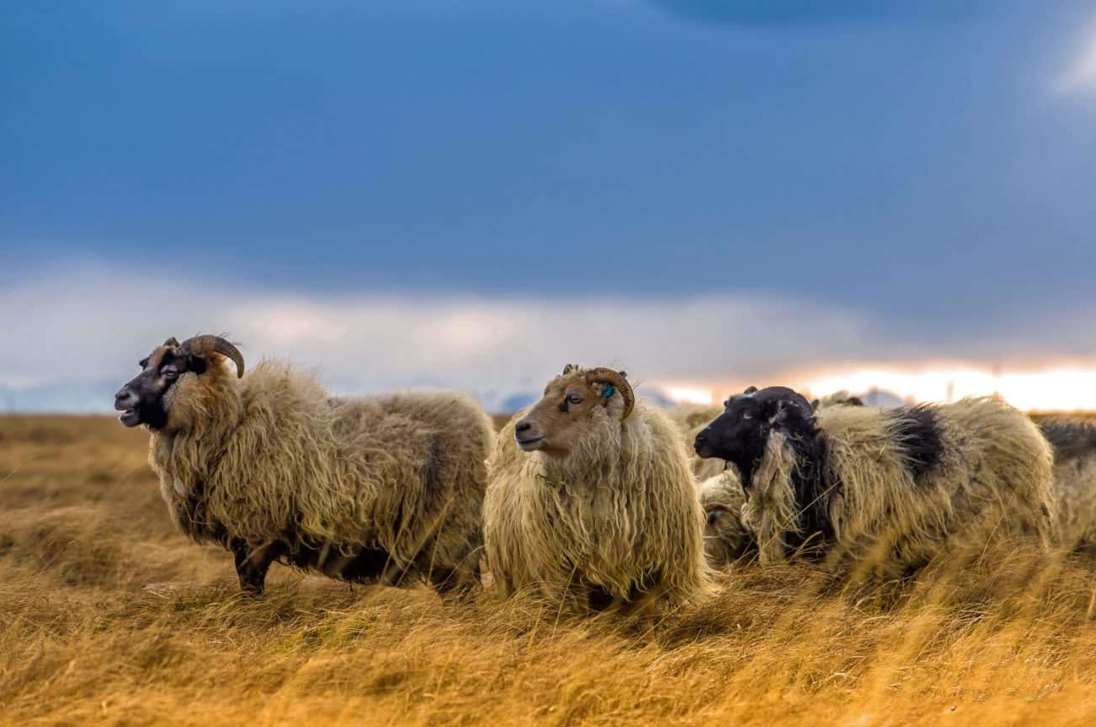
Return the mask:
[(964, 543), (1047, 542), (1050, 446), (996, 399), (815, 412), (769, 387), (732, 397), (695, 448), (738, 469), (763, 564), (833, 554), (894, 577)]

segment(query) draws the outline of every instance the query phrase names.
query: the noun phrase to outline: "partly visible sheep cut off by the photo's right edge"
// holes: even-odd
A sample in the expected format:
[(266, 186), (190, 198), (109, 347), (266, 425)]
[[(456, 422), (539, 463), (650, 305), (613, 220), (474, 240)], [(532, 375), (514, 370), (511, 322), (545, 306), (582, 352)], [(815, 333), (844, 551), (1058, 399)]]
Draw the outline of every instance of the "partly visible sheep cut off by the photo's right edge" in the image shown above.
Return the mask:
[(1039, 429), (1054, 448), (1054, 539), (1096, 550), (1096, 425), (1052, 420)]

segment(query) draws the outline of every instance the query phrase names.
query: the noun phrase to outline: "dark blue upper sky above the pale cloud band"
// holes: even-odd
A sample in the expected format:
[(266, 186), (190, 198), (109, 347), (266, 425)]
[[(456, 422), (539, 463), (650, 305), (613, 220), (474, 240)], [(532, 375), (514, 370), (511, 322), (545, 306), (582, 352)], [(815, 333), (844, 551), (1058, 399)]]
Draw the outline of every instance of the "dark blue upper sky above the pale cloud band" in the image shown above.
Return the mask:
[(19, 3), (0, 277), (795, 294), (941, 339), (1092, 307), (1060, 79), (1096, 10), (819, 4)]

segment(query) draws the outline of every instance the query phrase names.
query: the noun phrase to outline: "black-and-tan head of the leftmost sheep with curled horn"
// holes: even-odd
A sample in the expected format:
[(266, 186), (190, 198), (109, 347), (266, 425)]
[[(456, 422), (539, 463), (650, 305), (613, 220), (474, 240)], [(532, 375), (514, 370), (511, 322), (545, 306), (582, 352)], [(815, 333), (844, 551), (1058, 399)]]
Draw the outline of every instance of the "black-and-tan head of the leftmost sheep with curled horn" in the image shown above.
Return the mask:
[(214, 356), (230, 359), (237, 375), (243, 376), (243, 356), (225, 339), (195, 336), (180, 343), (169, 338), (141, 360), (141, 372), (114, 395), (114, 408), (122, 412), (118, 420), (126, 427), (163, 429), (179, 383), (205, 374)]

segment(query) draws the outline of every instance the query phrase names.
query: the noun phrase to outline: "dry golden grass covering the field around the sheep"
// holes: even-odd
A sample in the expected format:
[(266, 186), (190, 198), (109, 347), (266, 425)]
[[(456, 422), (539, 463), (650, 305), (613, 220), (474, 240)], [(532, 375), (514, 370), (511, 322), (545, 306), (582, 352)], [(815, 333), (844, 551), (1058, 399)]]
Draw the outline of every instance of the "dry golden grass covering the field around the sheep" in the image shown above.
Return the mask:
[(175, 535), (146, 438), (0, 419), (0, 723), (1091, 724), (1096, 563), (1019, 547), (916, 582), (724, 573), (651, 627), (443, 604)]

